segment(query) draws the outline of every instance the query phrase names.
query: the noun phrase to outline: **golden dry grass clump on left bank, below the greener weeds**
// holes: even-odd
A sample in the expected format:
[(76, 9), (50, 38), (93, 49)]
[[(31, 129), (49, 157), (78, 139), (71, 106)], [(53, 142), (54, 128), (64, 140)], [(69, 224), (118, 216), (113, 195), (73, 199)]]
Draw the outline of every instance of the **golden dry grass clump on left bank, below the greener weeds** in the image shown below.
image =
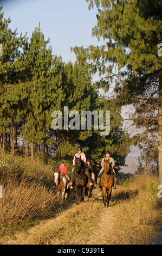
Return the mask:
[(49, 216), (54, 211), (56, 196), (40, 182), (9, 179), (2, 184), (0, 221), (15, 224)]

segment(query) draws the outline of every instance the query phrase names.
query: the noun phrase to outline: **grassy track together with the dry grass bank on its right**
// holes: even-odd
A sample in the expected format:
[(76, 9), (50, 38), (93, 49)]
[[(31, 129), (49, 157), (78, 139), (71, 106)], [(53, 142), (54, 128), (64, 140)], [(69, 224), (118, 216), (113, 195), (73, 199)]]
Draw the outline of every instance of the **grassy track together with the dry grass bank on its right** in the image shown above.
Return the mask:
[[(147, 177), (113, 190), (115, 199), (104, 208), (101, 191), (75, 204), (72, 198), (53, 218), (27, 231), (0, 238), (8, 245), (150, 245), (162, 230), (161, 200), (148, 187)], [(117, 202), (116, 202), (117, 201)]]

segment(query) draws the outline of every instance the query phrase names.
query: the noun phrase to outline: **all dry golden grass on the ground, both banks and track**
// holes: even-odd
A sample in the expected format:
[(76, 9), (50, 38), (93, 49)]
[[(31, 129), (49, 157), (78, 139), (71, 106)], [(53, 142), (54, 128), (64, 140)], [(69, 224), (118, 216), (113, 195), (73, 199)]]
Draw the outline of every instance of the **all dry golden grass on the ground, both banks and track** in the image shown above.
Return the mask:
[[(30, 166), (30, 163), (28, 164)], [(53, 192), (42, 182), (29, 183), (25, 180), (16, 181), (15, 178), (8, 180), (4, 184), (5, 194), (1, 200), (2, 227), (4, 222), (16, 225), (37, 218), (49, 218), (41, 220), (34, 227), (28, 226), (28, 229), (22, 231), (19, 229), (11, 234), (5, 233), (8, 236), (2, 235), (1, 243), (30, 245), (154, 243), (153, 240), (162, 230), (162, 199), (157, 197), (157, 186), (156, 176), (141, 175), (131, 178), (131, 182), (128, 180), (122, 182), (122, 185), (113, 190), (114, 202), (110, 203), (109, 208), (103, 207), (100, 189), (94, 189), (93, 197), (86, 198), (85, 202), (79, 205), (73, 202), (73, 194), (71, 194), (70, 201), (60, 204), (58, 211), (58, 207), (54, 209), (57, 200)], [(53, 212), (56, 210), (57, 215), (54, 217)]]

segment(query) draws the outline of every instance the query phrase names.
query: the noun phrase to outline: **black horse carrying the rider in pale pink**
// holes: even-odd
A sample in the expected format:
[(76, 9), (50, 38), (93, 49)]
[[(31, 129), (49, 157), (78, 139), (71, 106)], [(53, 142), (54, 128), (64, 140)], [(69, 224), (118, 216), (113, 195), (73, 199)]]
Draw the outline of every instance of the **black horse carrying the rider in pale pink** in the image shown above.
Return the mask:
[(83, 164), (85, 163), (81, 160), (81, 157), (75, 156), (75, 173), (72, 186), (76, 202), (83, 201), (87, 193), (88, 176), (85, 173)]

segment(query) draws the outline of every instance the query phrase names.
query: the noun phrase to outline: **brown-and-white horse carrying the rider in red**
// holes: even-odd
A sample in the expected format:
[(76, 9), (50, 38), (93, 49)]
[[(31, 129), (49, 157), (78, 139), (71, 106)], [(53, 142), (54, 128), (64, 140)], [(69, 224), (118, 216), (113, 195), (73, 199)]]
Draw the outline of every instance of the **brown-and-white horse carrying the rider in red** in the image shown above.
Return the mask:
[(62, 203), (66, 202), (66, 200), (69, 198), (70, 186), (68, 185), (65, 175), (61, 173), (60, 170), (57, 170), (54, 173), (54, 177), (55, 177), (54, 181), (56, 183), (57, 195), (59, 196), (61, 193)]

